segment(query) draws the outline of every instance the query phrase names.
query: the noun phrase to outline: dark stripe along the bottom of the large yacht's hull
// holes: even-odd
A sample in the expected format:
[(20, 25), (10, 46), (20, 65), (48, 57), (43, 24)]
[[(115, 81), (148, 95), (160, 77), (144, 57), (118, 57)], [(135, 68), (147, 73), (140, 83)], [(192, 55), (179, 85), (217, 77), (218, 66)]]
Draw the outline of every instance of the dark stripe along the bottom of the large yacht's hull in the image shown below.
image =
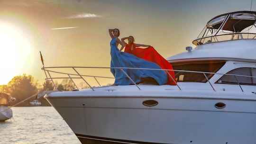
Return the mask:
[[(98, 137), (98, 136), (91, 136), (91, 135), (81, 135), (81, 134), (75, 134), (75, 135), (79, 138), (79, 140), (80, 140), (80, 138), (81, 139), (90, 139), (90, 140), (95, 140), (95, 141), (110, 142), (110, 144), (111, 143), (119, 143), (119, 144), (167, 144), (167, 143), (150, 143), (150, 142), (139, 142), (139, 141), (131, 141), (131, 140), (121, 140), (121, 139), (105, 138), (105, 137)], [(100, 143), (95, 143), (95, 144), (100, 144)]]

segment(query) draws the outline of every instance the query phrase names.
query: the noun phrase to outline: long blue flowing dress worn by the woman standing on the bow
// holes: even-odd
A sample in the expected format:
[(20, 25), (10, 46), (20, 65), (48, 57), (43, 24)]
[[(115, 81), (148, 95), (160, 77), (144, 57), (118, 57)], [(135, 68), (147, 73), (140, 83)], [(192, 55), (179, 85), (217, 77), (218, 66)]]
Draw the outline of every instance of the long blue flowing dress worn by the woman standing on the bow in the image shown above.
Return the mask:
[[(128, 67), (128, 68), (151, 68), (161, 69), (156, 63), (149, 62), (138, 58), (133, 54), (120, 52), (117, 44), (116, 37), (113, 37), (110, 41), (110, 55), (111, 55), (111, 67)], [(114, 84), (116, 85), (129, 85), (133, 82), (126, 76), (120, 69), (111, 68), (110, 71), (115, 77)], [(153, 78), (159, 85), (163, 85), (167, 82), (167, 74), (165, 71), (159, 70), (139, 70), (139, 69), (123, 69), (128, 76), (136, 83), (140, 82), (142, 78)]]

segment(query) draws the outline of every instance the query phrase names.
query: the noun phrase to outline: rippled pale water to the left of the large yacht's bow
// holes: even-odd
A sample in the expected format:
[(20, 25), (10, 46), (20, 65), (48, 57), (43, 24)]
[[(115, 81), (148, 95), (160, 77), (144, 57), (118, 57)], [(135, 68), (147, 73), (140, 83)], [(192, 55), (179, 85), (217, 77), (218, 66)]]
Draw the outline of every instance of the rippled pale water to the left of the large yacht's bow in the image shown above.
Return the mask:
[(0, 122), (0, 144), (81, 144), (53, 107), (11, 109), (14, 120)]

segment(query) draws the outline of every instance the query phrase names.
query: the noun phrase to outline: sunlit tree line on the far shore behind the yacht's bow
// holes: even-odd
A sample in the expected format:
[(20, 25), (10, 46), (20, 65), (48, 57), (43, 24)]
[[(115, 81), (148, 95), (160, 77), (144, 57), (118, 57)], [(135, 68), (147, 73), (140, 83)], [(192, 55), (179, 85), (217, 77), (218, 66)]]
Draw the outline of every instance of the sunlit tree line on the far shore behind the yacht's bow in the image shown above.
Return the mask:
[[(63, 79), (61, 83), (55, 81), (55, 85), (60, 91), (71, 91), (76, 89), (73, 81), (70, 79)], [(82, 82), (79, 83), (78, 87), (79, 89), (88, 88), (88, 86)], [(8, 84), (0, 85), (0, 92), (9, 94), (10, 97), (16, 98), (16, 101), (11, 103), (12, 105), (44, 90), (54, 90), (53, 83), (51, 81), (45, 81), (41, 85), (37, 80), (34, 79), (32, 75), (27, 74), (15, 76), (11, 81), (8, 82)], [(34, 99), (36, 99), (36, 97), (28, 99), (17, 106), (29, 106), (29, 102), (33, 101)], [(50, 106), (47, 100), (43, 97), (41, 97), (39, 101), (41, 102), (41, 106)]]

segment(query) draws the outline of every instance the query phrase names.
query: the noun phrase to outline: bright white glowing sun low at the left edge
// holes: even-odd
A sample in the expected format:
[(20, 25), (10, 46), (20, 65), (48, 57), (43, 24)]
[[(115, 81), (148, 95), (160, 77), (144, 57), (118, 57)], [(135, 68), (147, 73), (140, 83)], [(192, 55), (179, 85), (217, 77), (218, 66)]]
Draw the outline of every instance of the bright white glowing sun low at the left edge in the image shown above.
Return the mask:
[(17, 27), (0, 23), (0, 84), (7, 84), (26, 63), (31, 46)]

